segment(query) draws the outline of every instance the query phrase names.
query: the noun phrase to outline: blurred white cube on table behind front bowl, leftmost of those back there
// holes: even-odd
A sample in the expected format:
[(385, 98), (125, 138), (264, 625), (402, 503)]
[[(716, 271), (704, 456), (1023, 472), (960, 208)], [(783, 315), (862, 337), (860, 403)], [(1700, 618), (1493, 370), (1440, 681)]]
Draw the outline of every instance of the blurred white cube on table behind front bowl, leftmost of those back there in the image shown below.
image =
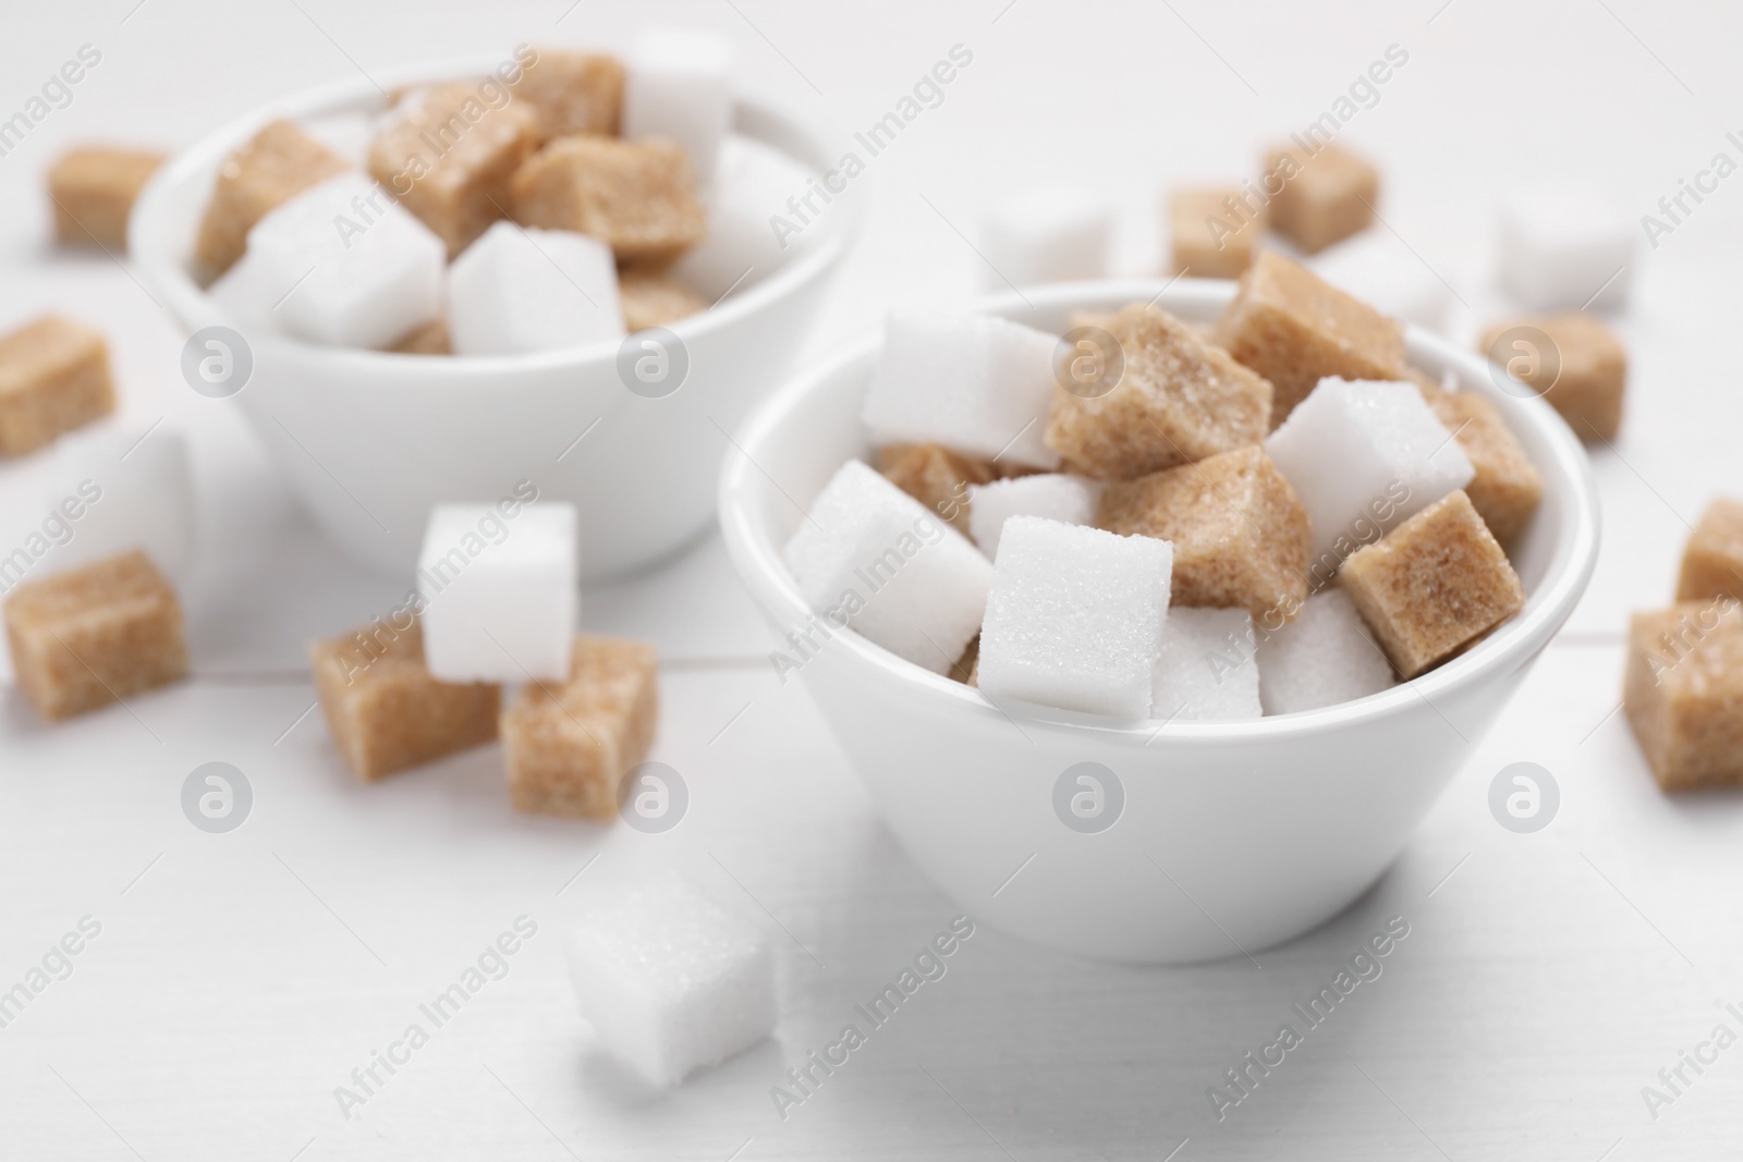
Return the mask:
[(1107, 274), (1114, 204), (1074, 185), (1016, 193), (987, 214), (981, 246), (987, 284), (1065, 282)]

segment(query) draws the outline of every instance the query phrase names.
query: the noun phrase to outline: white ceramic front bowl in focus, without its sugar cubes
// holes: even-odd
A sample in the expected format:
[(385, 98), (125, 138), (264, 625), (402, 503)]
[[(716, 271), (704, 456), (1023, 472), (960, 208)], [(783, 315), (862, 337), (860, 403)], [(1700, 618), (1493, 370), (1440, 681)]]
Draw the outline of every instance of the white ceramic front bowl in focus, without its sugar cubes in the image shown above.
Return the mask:
[[(1229, 282), (1081, 282), (976, 305), (1063, 331), (1067, 310), (1133, 300), (1211, 319)], [(1007, 718), (978, 690), (838, 632), (798, 671), (891, 829), (966, 911), (1072, 953), (1190, 962), (1251, 953), (1321, 923), (1372, 885), (1471, 756), (1591, 577), (1598, 509), (1584, 451), (1539, 399), (1501, 392), (1478, 355), (1412, 329), (1410, 357), (1495, 401), (1544, 477), (1513, 545), (1525, 610), (1473, 650), (1358, 702), (1251, 723), (1109, 725)], [(722, 472), (720, 519), (777, 638), (810, 610), (781, 547), (830, 474), (868, 451), (859, 406), (877, 343), (763, 404)], [(1161, 728), (1159, 728), (1161, 726)], [(1124, 808), (1082, 834), (1055, 814), (1075, 763), (1112, 770)]]

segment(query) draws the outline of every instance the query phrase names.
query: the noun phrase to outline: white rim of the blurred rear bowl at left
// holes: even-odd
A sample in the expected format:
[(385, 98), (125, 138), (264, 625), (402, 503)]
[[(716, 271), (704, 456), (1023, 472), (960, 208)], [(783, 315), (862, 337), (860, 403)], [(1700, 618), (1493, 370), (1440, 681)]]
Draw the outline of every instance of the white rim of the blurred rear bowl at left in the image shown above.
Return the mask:
[[(261, 125), (275, 118), (312, 118), (333, 113), (364, 111), (364, 106), (378, 105), (383, 91), (392, 92), (406, 85), (436, 80), (465, 80), (493, 71), (502, 61), (495, 56), (464, 56), (441, 61), (425, 61), (392, 70), (382, 70), (373, 77), (349, 77), (268, 101), (254, 110), (232, 117), (216, 129), (202, 134), (192, 145), (176, 152), (164, 162), (139, 192), (127, 223), (127, 256), (145, 275), (146, 284), (167, 300), (169, 314), (190, 331), (211, 324), (237, 326), (248, 331), (249, 345), (279, 352), (293, 352), (307, 361), (317, 361), (335, 371), (371, 373), (380, 380), (401, 380), (408, 387), (427, 387), (431, 378), (465, 380), (479, 375), (504, 376), (514, 373), (542, 373), (549, 369), (607, 366), (617, 359), (624, 340), (596, 340), (579, 347), (566, 347), (549, 352), (532, 352), (523, 355), (424, 355), (408, 352), (387, 352), (373, 348), (324, 347), (296, 336), (249, 328), (213, 301), (206, 287), (195, 282), (193, 274), (185, 265), (178, 246), (169, 237), (167, 218), (173, 207), (180, 206), (180, 195), (190, 181), (211, 167), (253, 136)], [(376, 111), (385, 111), (376, 110)], [(804, 143), (814, 159), (830, 157), (831, 145), (826, 125), (777, 108), (770, 101), (734, 91), (734, 132), (777, 148), (784, 157), (800, 162), (807, 169), (816, 169), (810, 159), (800, 159), (784, 146), (767, 141), (770, 134), (779, 134)], [(746, 132), (749, 131), (749, 132)], [(760, 131), (760, 132), (758, 132)], [(368, 178), (366, 171), (359, 171)], [(204, 193), (199, 192), (199, 193)], [(732, 328), (736, 322), (762, 312), (774, 301), (798, 293), (821, 277), (830, 267), (838, 263), (858, 235), (863, 195), (837, 197), (831, 204), (833, 225), (816, 239), (800, 247), (797, 254), (767, 279), (753, 282), (743, 291), (729, 289), (720, 300), (687, 319), (671, 322), (666, 329), (685, 341), (706, 340), (708, 336)], [(627, 338), (627, 334), (626, 334)], [(396, 375), (396, 373), (411, 373)]]

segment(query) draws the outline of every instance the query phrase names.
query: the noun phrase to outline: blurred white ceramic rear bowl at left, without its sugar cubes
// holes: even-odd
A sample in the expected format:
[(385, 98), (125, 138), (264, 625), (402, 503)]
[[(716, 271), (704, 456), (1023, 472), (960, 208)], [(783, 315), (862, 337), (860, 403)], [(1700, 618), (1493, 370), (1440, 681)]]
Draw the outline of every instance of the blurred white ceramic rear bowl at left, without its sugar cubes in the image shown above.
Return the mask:
[[(481, 77), (495, 64), (444, 63), (382, 84)], [(577, 505), (582, 577), (627, 571), (685, 545), (713, 512), (727, 434), (786, 373), (821, 282), (847, 251), (854, 199), (837, 199), (774, 274), (671, 324), (690, 369), (661, 399), (624, 387), (617, 341), (518, 357), (394, 355), (317, 347), (227, 319), (188, 268), (218, 166), (274, 117), (382, 108), (385, 98), (368, 80), (329, 85), (242, 117), (171, 160), (139, 195), (129, 226), (146, 282), (188, 331), (225, 324), (244, 333), (254, 368), (234, 402), (321, 528), (364, 563), (410, 575), (432, 503), (495, 500), (519, 479)], [(734, 132), (817, 171), (833, 164), (823, 132), (753, 99), (739, 98)]]

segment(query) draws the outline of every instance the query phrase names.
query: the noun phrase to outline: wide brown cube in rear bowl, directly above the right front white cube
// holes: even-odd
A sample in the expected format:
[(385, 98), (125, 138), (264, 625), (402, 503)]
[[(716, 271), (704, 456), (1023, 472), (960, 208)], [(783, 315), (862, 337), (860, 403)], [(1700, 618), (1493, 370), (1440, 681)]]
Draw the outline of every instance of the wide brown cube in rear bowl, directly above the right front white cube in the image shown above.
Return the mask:
[(702, 239), (690, 162), (673, 141), (558, 138), (514, 174), (514, 220), (589, 233), (619, 260), (668, 260)]

